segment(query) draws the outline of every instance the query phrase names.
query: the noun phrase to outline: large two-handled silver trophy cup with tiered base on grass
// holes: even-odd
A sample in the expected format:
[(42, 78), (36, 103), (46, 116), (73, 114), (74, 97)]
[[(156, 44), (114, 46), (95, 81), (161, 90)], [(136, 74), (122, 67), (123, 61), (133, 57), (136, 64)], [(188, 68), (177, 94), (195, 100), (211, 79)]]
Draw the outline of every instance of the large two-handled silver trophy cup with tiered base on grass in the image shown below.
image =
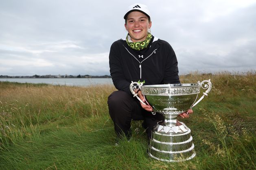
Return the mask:
[[(197, 100), (200, 88), (206, 91)], [(191, 131), (183, 122), (177, 121), (177, 116), (197, 105), (211, 88), (210, 80), (197, 84), (130, 84), (133, 97), (150, 105), (153, 108), (152, 114), (158, 112), (164, 115), (164, 121), (158, 122), (152, 130), (148, 148), (150, 157), (169, 162), (186, 161), (195, 157)], [(146, 103), (138, 97), (138, 89), (142, 91)]]

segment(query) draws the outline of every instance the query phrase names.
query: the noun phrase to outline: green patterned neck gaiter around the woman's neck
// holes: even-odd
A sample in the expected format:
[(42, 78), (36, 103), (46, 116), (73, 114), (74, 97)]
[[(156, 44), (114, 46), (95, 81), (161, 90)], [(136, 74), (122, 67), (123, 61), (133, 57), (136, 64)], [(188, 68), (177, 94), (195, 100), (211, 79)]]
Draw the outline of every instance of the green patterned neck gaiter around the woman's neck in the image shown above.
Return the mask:
[(127, 34), (127, 36), (126, 36), (126, 42), (127, 42), (127, 44), (129, 45), (129, 47), (131, 47), (132, 49), (135, 49), (135, 50), (138, 50), (138, 51), (139, 51), (139, 50), (142, 50), (142, 49), (144, 49), (144, 48), (147, 48), (147, 46), (149, 45), (149, 42), (150, 42), (151, 38), (152, 38), (152, 35), (151, 35), (150, 32), (148, 32), (145, 41), (133, 43), (133, 42), (131, 41), (130, 35)]

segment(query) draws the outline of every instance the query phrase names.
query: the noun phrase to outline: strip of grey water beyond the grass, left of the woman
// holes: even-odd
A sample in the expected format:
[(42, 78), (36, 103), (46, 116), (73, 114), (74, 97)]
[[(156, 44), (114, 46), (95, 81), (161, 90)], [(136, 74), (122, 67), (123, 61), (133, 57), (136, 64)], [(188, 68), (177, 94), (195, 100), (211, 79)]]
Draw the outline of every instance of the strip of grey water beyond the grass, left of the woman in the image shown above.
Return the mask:
[(46, 83), (66, 86), (113, 84), (111, 78), (0, 78), (0, 82)]

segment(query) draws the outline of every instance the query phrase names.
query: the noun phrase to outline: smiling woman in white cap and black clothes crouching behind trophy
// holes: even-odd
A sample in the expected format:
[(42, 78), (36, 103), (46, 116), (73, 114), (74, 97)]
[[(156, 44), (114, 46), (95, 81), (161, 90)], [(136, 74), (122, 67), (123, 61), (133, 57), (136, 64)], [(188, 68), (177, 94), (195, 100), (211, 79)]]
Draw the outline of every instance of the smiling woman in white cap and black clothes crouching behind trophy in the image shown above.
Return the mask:
[[(144, 4), (128, 7), (124, 16), (126, 40), (115, 41), (109, 53), (109, 67), (113, 83), (118, 91), (108, 98), (109, 114), (114, 122), (117, 136), (124, 133), (130, 138), (131, 120), (144, 120), (142, 124), (151, 138), (151, 129), (158, 121), (164, 120), (162, 114), (151, 114), (152, 108), (133, 98), (129, 85), (133, 82), (150, 84), (179, 84), (177, 58), (171, 45), (150, 33), (149, 9)], [(141, 91), (138, 96), (142, 101)], [(193, 113), (188, 110), (180, 114), (182, 118)]]

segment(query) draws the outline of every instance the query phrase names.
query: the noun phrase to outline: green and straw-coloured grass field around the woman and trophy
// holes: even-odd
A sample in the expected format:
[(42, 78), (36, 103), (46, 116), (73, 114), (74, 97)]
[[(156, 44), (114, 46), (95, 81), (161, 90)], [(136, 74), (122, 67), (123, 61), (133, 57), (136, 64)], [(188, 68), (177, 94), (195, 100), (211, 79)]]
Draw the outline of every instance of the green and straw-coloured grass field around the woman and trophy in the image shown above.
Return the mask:
[[(150, 158), (140, 121), (115, 146), (107, 97), (111, 85), (53, 86), (0, 82), (0, 169), (256, 169), (256, 73), (191, 73), (212, 90), (182, 119), (197, 156), (166, 163)], [(181, 118), (180, 118), (181, 119)]]

